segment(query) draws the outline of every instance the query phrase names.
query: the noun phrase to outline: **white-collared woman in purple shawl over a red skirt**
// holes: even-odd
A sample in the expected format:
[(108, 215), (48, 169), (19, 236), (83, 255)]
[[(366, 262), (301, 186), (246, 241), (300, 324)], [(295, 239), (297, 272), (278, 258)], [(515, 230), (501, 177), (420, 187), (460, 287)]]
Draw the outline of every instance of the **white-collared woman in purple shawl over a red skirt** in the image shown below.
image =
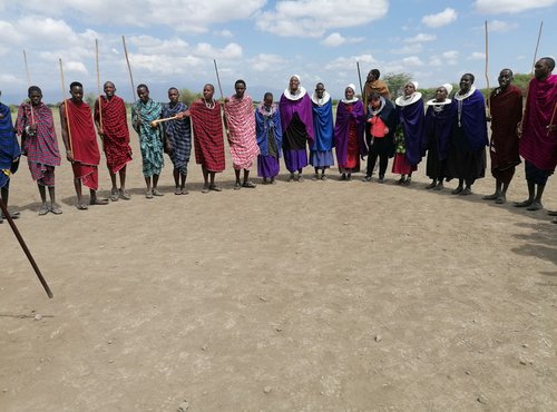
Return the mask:
[(336, 107), (334, 147), (341, 180), (350, 180), (353, 171), (360, 171), (360, 156), (367, 154), (362, 149), (365, 114), (362, 101), (354, 94), (355, 86), (350, 84), (344, 90), (344, 99)]

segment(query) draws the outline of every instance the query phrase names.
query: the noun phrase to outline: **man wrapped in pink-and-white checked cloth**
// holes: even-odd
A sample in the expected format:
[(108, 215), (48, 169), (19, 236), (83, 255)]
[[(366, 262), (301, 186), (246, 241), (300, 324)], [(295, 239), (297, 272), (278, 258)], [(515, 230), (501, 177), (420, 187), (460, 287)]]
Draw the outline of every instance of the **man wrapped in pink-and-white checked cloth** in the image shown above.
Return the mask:
[[(246, 85), (244, 80), (234, 84), (236, 94), (225, 99), (224, 121), (227, 126), (226, 136), (231, 147), (232, 164), (236, 174), (234, 189), (241, 187), (254, 188), (250, 180), (250, 169), (253, 160), (260, 154), (257, 139), (255, 138), (255, 115), (253, 100), (245, 95)], [(244, 170), (244, 180), (240, 180), (240, 173)]]

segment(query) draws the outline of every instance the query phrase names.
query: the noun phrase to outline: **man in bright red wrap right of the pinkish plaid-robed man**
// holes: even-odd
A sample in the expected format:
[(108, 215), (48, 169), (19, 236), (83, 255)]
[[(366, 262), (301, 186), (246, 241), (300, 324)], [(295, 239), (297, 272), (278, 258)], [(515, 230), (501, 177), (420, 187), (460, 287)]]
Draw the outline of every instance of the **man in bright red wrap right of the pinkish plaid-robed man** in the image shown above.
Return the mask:
[(89, 188), (89, 205), (106, 205), (108, 199), (98, 198), (100, 161), (97, 136), (92, 124), (91, 108), (84, 101), (84, 86), (79, 81), (70, 85), (71, 99), (60, 105), (60, 125), (66, 146), (66, 158), (71, 163), (78, 210), (86, 210), (81, 185)]

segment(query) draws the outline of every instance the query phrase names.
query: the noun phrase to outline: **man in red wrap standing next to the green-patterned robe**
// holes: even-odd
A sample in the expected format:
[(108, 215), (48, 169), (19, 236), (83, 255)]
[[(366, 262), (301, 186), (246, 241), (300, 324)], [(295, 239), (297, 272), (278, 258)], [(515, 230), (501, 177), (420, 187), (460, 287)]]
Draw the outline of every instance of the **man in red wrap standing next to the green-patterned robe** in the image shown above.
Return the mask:
[[(110, 200), (116, 202), (119, 197), (129, 200), (131, 197), (126, 190), (126, 166), (131, 161), (131, 147), (129, 147), (126, 105), (115, 95), (114, 82), (106, 81), (104, 89), (105, 96), (95, 101), (95, 125), (102, 140), (106, 164), (113, 182)], [(120, 188), (116, 184), (116, 174), (120, 176)]]

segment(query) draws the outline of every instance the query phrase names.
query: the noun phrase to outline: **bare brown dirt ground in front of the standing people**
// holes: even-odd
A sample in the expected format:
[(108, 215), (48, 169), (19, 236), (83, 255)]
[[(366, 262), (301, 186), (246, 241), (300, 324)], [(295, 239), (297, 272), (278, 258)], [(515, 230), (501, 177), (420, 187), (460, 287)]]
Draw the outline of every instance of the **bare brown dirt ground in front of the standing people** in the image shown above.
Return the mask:
[[(65, 161), (63, 214), (39, 217), (25, 160), (12, 180), (55, 298), (0, 225), (1, 411), (557, 410), (545, 210), (481, 200), (490, 176), (468, 197), (426, 190), (424, 165), (410, 187), (235, 192), (229, 158), (223, 193), (202, 194), (192, 161), (175, 196), (165, 157), (165, 196), (146, 199), (131, 139), (129, 202), (77, 210)], [(508, 198), (525, 196), (520, 167)]]

